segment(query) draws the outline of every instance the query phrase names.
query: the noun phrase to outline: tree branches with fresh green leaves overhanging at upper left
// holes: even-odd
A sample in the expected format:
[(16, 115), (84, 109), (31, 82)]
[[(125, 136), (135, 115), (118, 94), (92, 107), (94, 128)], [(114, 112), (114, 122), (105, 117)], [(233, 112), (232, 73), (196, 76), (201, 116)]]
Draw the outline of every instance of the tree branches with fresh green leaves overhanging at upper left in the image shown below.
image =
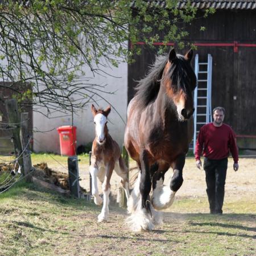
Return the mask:
[[(81, 100), (84, 94), (93, 97), (103, 91), (86, 80), (92, 75), (85, 73), (81, 80), (84, 65), (96, 75), (102, 65), (133, 61), (133, 54), (141, 51), (139, 41), (185, 46), (181, 40), (188, 34), (177, 24), (190, 24), (196, 8), (190, 2), (184, 9), (177, 9), (177, 0), (166, 0), (166, 7), (158, 2), (2, 1), (0, 73), (5, 81), (32, 84), (33, 93), (20, 98), (32, 98), (33, 104), (48, 110), (82, 108), (88, 102)], [(206, 10), (205, 16), (211, 13)], [(127, 48), (128, 41), (133, 48)]]

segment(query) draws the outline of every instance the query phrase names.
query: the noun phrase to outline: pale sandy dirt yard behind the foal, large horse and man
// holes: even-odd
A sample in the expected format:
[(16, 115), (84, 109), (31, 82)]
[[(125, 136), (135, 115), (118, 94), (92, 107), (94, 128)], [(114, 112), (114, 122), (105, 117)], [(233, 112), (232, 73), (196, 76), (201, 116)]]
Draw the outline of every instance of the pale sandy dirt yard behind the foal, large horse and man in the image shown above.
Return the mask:
[[(226, 177), (225, 198), (236, 196), (251, 197), (255, 196), (256, 192), (256, 158), (240, 158), (240, 168), (237, 172), (233, 171), (233, 159), (229, 158), (228, 172)], [(59, 166), (48, 165), (53, 170), (67, 172)], [(136, 167), (135, 162), (130, 163), (130, 168)], [(130, 177), (133, 177), (137, 169), (130, 172)], [(89, 164), (79, 162), (79, 176), (81, 177), (80, 185), (89, 191)], [(172, 170), (166, 173), (164, 180), (165, 184), (170, 184)], [(183, 169), (183, 185), (176, 193), (176, 196), (181, 197), (206, 197), (206, 184), (205, 174), (203, 170), (196, 168), (195, 159), (187, 158)], [(119, 177), (113, 173), (112, 180), (112, 193), (115, 195), (119, 187)], [(101, 192), (101, 184), (98, 183), (99, 191)]]

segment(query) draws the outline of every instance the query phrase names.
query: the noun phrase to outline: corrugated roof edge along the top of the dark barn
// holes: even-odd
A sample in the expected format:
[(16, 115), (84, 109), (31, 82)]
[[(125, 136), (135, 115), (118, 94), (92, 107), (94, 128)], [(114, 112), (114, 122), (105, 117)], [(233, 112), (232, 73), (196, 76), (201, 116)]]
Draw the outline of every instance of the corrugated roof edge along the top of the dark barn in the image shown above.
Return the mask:
[[(148, 0), (148, 4), (154, 2), (155, 5), (164, 7), (164, 0)], [(180, 0), (177, 2), (177, 8), (182, 9), (188, 0)], [(224, 10), (256, 10), (256, 0), (191, 0), (191, 5), (198, 9), (224, 9)]]

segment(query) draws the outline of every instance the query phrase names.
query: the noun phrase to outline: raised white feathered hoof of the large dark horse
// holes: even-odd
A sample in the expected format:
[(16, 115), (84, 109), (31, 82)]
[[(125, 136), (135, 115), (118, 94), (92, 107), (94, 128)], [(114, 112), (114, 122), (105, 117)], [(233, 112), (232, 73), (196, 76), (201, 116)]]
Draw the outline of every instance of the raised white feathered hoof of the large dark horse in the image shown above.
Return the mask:
[(163, 185), (163, 179), (156, 181), (156, 188), (152, 195), (152, 205), (156, 210), (170, 207), (174, 203), (175, 193), (169, 186)]

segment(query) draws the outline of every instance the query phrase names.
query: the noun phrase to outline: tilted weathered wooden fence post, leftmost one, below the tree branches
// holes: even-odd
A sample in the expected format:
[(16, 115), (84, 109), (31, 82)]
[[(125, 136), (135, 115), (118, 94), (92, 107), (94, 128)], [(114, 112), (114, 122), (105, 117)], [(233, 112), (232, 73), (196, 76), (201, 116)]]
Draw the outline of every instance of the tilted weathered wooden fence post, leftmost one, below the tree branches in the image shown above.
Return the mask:
[(14, 150), (15, 150), (15, 155), (18, 157), (18, 163), (21, 169), (21, 172), (23, 175), (24, 174), (24, 166), (23, 166), (23, 157), (20, 156), (22, 153), (22, 144), (20, 142), (20, 115), (19, 115), (19, 110), (18, 110), (18, 104), (15, 98), (9, 99), (5, 101), (5, 107), (7, 111), (7, 115), (9, 118), (9, 123), (10, 125), (14, 125), (13, 131), (13, 143), (14, 143)]

